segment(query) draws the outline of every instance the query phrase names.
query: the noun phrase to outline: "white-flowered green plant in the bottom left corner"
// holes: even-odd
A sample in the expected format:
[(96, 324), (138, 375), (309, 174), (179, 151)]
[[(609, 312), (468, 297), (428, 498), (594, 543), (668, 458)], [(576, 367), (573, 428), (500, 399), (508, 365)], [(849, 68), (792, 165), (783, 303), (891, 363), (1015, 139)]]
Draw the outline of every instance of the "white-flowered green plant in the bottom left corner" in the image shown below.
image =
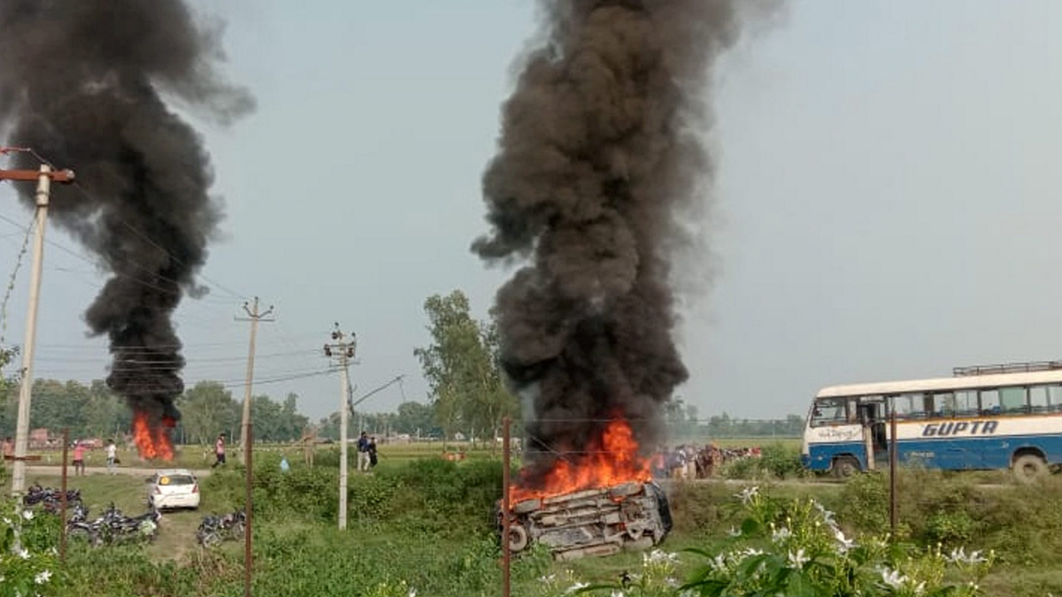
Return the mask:
[(56, 584), (53, 516), (0, 502), (0, 597), (47, 595)]

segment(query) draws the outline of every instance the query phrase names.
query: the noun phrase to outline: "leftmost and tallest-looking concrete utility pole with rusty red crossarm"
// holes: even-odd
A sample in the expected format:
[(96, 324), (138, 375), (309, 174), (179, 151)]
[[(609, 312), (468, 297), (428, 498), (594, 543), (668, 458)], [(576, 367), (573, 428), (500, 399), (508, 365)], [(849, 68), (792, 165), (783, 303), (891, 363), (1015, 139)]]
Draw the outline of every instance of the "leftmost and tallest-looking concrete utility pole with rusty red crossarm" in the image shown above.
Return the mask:
[[(0, 153), (11, 150), (0, 148)], [(40, 300), (40, 265), (45, 256), (45, 223), (48, 219), (48, 200), (52, 181), (72, 183), (70, 170), (52, 171), (51, 166), (40, 165), (40, 171), (0, 170), (0, 181), (37, 181), (36, 214), (33, 234), (33, 269), (30, 272), (30, 307), (25, 314), (25, 342), (22, 345), (21, 385), (18, 390), (18, 421), (15, 426), (15, 465), (11, 493), (16, 498), (25, 489), (25, 461), (30, 447), (30, 398), (33, 390), (33, 352), (37, 342), (37, 304)]]

